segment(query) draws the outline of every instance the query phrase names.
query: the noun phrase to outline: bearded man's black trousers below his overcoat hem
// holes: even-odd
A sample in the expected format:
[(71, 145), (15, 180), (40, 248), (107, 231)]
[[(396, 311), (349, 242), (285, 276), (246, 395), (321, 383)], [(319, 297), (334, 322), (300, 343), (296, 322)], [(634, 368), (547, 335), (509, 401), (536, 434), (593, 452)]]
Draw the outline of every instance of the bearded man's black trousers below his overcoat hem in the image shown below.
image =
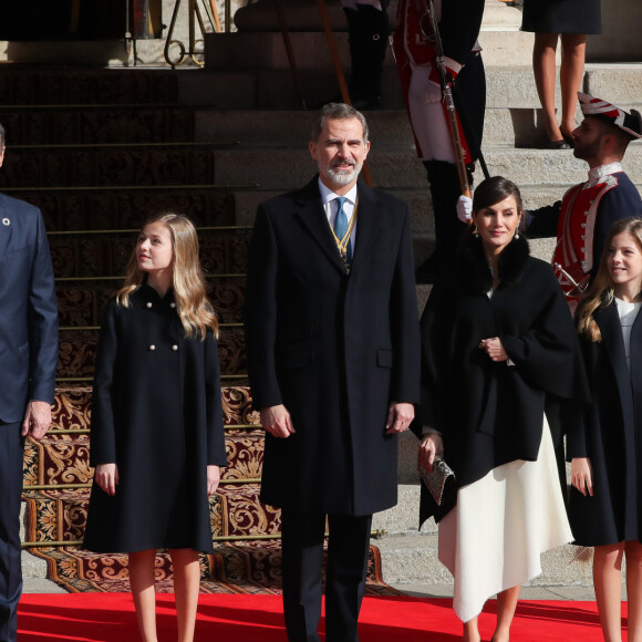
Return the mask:
[[(328, 516), (325, 641), (358, 642), (372, 515)], [(283, 510), (283, 612), (290, 642), (319, 642), (325, 515)]]

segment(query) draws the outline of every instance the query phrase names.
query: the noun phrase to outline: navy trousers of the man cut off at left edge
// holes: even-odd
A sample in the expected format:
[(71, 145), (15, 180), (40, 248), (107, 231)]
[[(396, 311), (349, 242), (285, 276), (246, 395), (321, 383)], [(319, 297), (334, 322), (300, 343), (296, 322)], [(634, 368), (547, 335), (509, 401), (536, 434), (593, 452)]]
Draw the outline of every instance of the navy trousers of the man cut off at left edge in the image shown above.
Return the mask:
[(0, 422), (0, 642), (15, 642), (22, 592), (20, 497), (24, 439), (21, 423)]

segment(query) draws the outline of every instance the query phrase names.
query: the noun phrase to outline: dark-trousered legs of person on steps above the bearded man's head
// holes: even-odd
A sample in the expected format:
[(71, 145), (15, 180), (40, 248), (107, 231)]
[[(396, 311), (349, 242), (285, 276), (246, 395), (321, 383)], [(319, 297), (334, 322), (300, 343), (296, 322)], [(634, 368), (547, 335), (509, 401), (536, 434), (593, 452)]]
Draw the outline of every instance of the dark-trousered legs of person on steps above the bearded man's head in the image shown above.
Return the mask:
[(381, 107), (381, 75), (387, 50), (387, 0), (341, 0), (350, 43), (350, 100), (355, 110)]

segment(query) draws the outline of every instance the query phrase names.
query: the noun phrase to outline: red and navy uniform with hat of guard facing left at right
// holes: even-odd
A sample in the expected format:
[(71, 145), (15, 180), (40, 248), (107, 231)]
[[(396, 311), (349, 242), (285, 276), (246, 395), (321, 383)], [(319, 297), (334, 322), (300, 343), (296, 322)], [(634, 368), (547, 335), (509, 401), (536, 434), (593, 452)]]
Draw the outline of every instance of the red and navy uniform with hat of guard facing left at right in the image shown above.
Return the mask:
[[(586, 116), (605, 116), (640, 137), (630, 114), (587, 94), (579, 96)], [(609, 229), (630, 216), (642, 217), (642, 198), (619, 162), (592, 167), (589, 179), (571, 187), (561, 201), (529, 213), (530, 237), (557, 232), (552, 265), (572, 310), (598, 270)]]

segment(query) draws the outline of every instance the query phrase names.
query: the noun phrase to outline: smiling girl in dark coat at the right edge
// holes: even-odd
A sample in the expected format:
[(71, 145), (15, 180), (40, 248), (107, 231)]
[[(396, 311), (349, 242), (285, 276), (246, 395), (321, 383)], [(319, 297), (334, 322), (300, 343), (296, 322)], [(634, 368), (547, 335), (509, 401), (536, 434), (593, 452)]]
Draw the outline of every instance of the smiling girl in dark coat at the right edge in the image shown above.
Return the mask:
[(577, 312), (593, 406), (568, 435), (569, 517), (594, 546), (593, 583), (607, 642), (620, 642), (627, 557), (629, 641), (642, 641), (642, 220), (613, 225)]

